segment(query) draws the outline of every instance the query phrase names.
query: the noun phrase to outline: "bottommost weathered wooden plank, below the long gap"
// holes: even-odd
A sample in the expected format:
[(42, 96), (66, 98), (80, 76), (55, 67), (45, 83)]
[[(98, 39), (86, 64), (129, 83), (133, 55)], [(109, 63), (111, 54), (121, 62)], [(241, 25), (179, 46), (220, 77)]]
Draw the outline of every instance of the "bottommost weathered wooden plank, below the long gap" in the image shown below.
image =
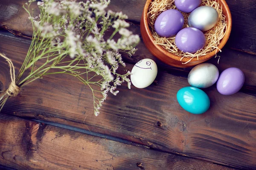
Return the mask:
[(0, 164), (15, 169), (231, 170), (5, 114), (0, 136)]

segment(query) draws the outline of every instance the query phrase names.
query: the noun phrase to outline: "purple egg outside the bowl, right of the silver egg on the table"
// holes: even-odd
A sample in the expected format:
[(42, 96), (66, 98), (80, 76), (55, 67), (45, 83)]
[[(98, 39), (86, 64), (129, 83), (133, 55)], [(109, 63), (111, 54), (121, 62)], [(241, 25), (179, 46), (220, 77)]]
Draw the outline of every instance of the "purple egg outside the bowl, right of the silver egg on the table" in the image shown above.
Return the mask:
[(217, 82), (217, 90), (220, 94), (231, 95), (238, 92), (244, 85), (244, 73), (239, 68), (227, 68)]

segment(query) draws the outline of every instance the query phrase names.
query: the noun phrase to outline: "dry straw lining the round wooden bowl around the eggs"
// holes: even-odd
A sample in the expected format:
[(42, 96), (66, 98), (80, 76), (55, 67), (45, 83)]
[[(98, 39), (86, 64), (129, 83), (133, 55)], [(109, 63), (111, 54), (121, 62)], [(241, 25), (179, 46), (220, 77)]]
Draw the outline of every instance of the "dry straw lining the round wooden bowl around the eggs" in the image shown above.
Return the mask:
[[(180, 56), (180, 61), (182, 61), (184, 57), (191, 58), (189, 59), (189, 61), (191, 61), (194, 57), (197, 57), (198, 59), (199, 57), (209, 54), (211, 51), (214, 51), (216, 48), (218, 48), (218, 45), (220, 44), (221, 39), (224, 37), (227, 30), (227, 23), (225, 21), (225, 15), (223, 14), (222, 11), (222, 6), (220, 6), (218, 1), (216, 0), (202, 0), (201, 6), (212, 6), (217, 10), (219, 14), (218, 23), (216, 24), (216, 26), (210, 29), (209, 31), (204, 32), (204, 35), (206, 37), (206, 46), (204, 47), (204, 49), (198, 50), (195, 54), (184, 53), (180, 51), (175, 45), (175, 36), (169, 38), (160, 37), (154, 30), (154, 22), (159, 14), (161, 14), (163, 11), (166, 11), (167, 9), (177, 9), (174, 0), (152, 0), (149, 6), (148, 25), (155, 39), (154, 43), (157, 45), (161, 45), (163, 48), (166, 49), (166, 51), (169, 51), (170, 53), (175, 54), (177, 56)], [(181, 13), (184, 16), (183, 28), (189, 27), (189, 13)]]

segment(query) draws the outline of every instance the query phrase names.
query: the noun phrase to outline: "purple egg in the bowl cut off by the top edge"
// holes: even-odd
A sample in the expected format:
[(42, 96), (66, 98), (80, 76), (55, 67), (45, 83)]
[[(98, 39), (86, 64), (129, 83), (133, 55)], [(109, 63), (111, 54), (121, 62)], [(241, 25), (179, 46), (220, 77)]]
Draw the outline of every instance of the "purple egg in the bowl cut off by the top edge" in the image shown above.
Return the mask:
[(189, 13), (197, 8), (202, 0), (175, 0), (174, 3), (178, 10)]

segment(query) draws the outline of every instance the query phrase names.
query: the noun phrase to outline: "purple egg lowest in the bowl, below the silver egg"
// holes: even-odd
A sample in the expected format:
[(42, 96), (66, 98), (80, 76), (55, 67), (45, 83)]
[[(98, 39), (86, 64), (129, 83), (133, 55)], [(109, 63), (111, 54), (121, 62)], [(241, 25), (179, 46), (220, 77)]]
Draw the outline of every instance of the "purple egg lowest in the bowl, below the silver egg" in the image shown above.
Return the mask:
[(175, 37), (175, 44), (183, 52), (195, 53), (204, 48), (206, 38), (197, 28), (183, 28)]

